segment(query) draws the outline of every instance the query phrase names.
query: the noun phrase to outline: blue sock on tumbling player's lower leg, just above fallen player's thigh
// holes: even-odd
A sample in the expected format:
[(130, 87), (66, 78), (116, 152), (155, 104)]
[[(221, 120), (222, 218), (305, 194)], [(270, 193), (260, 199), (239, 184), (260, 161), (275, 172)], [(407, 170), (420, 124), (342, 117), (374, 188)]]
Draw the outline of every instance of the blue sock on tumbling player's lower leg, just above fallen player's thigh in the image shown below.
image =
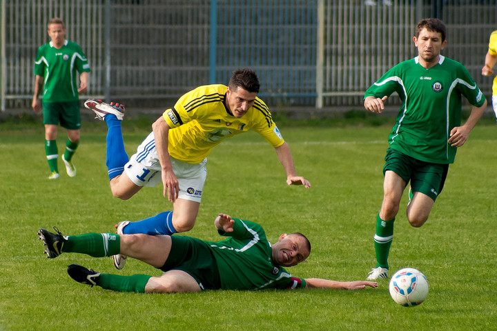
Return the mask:
[(152, 236), (168, 234), (170, 236), (176, 232), (173, 227), (173, 212), (161, 212), (142, 221), (130, 222), (123, 228), (124, 234), (144, 233)]

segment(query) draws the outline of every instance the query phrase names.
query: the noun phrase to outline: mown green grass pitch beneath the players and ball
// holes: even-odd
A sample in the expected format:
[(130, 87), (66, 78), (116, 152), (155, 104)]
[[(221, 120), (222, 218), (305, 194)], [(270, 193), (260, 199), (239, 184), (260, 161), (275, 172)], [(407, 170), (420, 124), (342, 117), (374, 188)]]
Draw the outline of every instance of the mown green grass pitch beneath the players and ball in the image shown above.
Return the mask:
[[(110, 194), (105, 124), (85, 123), (77, 177), (48, 181), (41, 126), (0, 123), (0, 330), (497, 330), (497, 128), (477, 126), (451, 165), (429, 221), (411, 228), (403, 197), (391, 248), (391, 274), (404, 267), (427, 276), (427, 301), (396, 305), (388, 281), (378, 289), (206, 291), (132, 294), (90, 288), (66, 272), (79, 263), (99, 272), (160, 272), (136, 260), (115, 270), (110, 258), (64, 254), (48, 260), (39, 228), (63, 234), (113, 232), (170, 210), (162, 185), (129, 201)], [(389, 126), (280, 127), (298, 173), (313, 187), (288, 187), (273, 148), (257, 134), (228, 139), (208, 161), (192, 237), (217, 240), (217, 213), (261, 223), (270, 241), (300, 231), (312, 242), (295, 276), (365, 279), (375, 265), (373, 234), (382, 201)], [(59, 151), (65, 134), (59, 134)], [(148, 134), (126, 127), (129, 154)], [(60, 152), (59, 152), (60, 153)], [(407, 194), (405, 194), (407, 195)]]

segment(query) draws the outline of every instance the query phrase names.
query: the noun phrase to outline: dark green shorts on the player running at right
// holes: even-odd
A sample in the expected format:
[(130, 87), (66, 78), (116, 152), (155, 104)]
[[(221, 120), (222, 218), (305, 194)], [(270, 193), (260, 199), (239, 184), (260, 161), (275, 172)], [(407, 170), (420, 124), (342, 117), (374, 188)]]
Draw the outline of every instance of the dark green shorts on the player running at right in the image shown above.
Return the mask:
[(420, 161), (389, 148), (383, 174), (387, 170), (398, 174), (406, 183), (411, 181), (412, 192), (421, 192), (435, 201), (442, 192), (449, 165)]

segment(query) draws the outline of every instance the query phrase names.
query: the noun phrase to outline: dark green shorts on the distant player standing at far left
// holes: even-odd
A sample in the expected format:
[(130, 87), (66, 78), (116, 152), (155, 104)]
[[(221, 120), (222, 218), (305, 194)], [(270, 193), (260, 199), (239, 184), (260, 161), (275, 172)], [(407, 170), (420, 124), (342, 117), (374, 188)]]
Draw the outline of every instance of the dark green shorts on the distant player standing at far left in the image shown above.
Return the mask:
[(43, 102), (43, 124), (60, 125), (68, 130), (81, 128), (79, 101)]

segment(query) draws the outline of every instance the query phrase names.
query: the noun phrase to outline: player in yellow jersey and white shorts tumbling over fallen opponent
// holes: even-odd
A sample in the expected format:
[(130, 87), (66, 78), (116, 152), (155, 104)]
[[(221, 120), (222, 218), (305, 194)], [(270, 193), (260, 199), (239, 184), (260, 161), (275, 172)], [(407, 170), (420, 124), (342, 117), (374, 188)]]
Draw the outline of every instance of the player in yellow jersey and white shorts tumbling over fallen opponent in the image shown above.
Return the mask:
[[(118, 234), (170, 235), (191, 230), (202, 199), (207, 155), (224, 139), (248, 130), (261, 134), (275, 148), (288, 185), (311, 187), (297, 175), (288, 144), (266, 104), (257, 97), (259, 88), (255, 72), (243, 68), (233, 72), (228, 86), (201, 86), (187, 92), (153, 123), (153, 132), (129, 160), (121, 132), (124, 107), (95, 99), (85, 102), (86, 108), (108, 125), (106, 165), (113, 195), (130, 199), (142, 187), (162, 181), (164, 197), (173, 203), (172, 212), (120, 222)], [(121, 255), (114, 257), (118, 269), (124, 267), (124, 261)]]

